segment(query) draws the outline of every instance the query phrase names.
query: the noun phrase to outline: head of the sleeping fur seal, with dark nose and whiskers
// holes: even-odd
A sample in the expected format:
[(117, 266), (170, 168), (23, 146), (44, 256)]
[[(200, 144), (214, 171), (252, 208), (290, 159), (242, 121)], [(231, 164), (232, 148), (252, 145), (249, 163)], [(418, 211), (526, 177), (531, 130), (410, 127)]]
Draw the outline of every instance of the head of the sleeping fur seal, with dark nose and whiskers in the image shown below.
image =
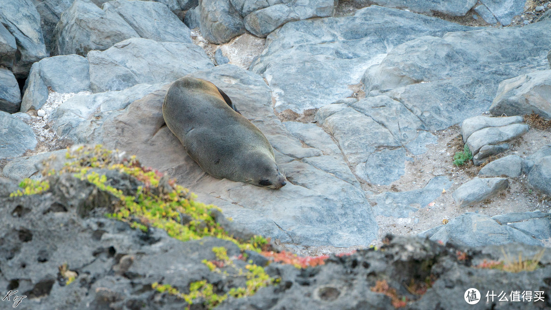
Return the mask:
[(271, 189), (280, 189), (287, 184), (285, 175), (279, 171), (273, 160), (252, 156), (247, 166), (249, 166), (247, 167), (249, 177), (245, 179), (247, 183)]

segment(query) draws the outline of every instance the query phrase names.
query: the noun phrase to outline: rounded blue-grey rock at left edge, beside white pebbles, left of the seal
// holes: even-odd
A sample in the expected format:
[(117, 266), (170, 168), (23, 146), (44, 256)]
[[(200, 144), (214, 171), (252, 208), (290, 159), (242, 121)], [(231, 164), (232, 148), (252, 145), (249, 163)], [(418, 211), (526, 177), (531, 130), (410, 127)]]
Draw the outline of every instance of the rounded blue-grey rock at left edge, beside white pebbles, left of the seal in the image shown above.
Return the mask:
[(36, 146), (36, 135), (29, 125), (0, 111), (0, 159), (12, 159)]

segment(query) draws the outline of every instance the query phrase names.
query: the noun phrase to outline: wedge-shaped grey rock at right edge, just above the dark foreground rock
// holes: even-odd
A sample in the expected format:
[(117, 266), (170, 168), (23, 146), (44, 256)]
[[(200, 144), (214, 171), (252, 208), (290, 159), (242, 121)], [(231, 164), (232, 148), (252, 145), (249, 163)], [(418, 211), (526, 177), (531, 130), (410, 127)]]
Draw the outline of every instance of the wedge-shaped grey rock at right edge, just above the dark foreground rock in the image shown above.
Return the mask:
[(514, 212), (494, 215), (491, 219), (501, 225), (507, 225), (520, 230), (539, 240), (551, 237), (551, 214), (541, 211)]

